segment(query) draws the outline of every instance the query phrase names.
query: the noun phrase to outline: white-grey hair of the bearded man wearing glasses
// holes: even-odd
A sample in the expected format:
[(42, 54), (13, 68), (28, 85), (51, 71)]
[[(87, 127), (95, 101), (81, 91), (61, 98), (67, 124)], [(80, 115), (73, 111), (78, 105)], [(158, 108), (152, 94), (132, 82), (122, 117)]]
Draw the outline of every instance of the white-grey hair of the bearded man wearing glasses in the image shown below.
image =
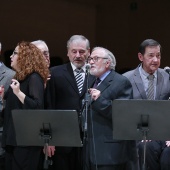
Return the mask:
[(105, 52), (105, 57), (108, 58), (108, 60), (111, 61), (110, 69), (115, 70), (115, 67), (116, 67), (116, 58), (115, 58), (115, 56), (113, 55), (113, 53), (110, 52), (108, 49), (103, 48), (103, 47), (94, 47), (94, 48), (92, 49), (92, 52), (93, 52), (94, 50), (97, 50), (97, 49), (102, 49), (102, 50)]

